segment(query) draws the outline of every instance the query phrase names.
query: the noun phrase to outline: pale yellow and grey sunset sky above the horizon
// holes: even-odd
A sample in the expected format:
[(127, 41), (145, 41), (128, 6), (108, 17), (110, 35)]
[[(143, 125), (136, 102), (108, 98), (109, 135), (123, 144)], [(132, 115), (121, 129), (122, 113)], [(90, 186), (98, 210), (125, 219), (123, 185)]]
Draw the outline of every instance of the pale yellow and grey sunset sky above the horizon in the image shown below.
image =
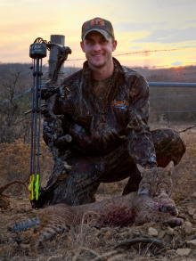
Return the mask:
[(37, 37), (64, 35), (72, 50), (65, 66), (81, 67), (81, 26), (102, 17), (113, 25), (113, 56), (123, 65), (195, 65), (195, 11), (195, 0), (0, 0), (0, 62), (31, 62), (29, 45)]

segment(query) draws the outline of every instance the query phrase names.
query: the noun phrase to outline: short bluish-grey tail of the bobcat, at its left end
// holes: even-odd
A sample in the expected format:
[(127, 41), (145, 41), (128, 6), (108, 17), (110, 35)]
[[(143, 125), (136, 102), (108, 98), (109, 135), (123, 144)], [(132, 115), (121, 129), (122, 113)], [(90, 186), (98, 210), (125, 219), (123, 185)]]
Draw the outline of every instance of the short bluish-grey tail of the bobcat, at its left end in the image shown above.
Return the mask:
[(39, 224), (40, 224), (39, 218), (32, 217), (32, 218), (26, 219), (24, 221), (15, 223), (13, 226), (8, 227), (8, 230), (11, 232), (22, 232), (22, 231), (28, 230), (32, 227), (35, 227)]

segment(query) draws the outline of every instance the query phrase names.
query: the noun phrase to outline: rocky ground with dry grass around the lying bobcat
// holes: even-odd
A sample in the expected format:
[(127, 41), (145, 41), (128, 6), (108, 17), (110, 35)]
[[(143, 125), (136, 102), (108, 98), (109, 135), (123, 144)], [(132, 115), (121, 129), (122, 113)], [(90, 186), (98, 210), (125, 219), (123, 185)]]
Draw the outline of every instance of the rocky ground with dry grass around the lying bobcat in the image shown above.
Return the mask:
[[(181, 130), (183, 127), (176, 127)], [(196, 260), (196, 130), (181, 134), (187, 151), (173, 176), (173, 199), (184, 218), (184, 225), (170, 228), (162, 224), (96, 229), (83, 224), (69, 233), (45, 242), (42, 249), (25, 252), (18, 247), (7, 225), (30, 216), (27, 197), (11, 197), (11, 208), (1, 209), (0, 260)], [(120, 193), (126, 181), (102, 184), (97, 200)], [(27, 233), (26, 236), (29, 236)], [(130, 240), (139, 239), (133, 243)], [(154, 239), (151, 242), (142, 242)]]

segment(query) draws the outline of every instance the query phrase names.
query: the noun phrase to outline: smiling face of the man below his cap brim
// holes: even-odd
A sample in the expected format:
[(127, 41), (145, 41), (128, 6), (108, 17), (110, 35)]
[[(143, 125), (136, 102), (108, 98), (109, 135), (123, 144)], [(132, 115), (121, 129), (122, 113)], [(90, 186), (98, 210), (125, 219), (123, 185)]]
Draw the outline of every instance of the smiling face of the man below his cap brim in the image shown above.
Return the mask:
[(110, 64), (112, 52), (116, 49), (117, 41), (106, 40), (99, 32), (93, 31), (87, 34), (84, 41), (80, 43), (89, 66), (99, 69)]

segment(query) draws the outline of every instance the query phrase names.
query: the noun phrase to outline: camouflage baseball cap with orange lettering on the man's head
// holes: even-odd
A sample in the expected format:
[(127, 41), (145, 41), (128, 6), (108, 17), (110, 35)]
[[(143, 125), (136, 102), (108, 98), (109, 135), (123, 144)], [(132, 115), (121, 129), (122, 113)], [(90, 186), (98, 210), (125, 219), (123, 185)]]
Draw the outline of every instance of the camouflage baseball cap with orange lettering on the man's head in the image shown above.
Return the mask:
[(106, 39), (114, 37), (114, 30), (110, 23), (110, 20), (105, 20), (100, 17), (95, 17), (92, 20), (87, 20), (82, 25), (82, 40), (85, 39), (86, 35), (92, 31), (97, 31), (102, 34)]

